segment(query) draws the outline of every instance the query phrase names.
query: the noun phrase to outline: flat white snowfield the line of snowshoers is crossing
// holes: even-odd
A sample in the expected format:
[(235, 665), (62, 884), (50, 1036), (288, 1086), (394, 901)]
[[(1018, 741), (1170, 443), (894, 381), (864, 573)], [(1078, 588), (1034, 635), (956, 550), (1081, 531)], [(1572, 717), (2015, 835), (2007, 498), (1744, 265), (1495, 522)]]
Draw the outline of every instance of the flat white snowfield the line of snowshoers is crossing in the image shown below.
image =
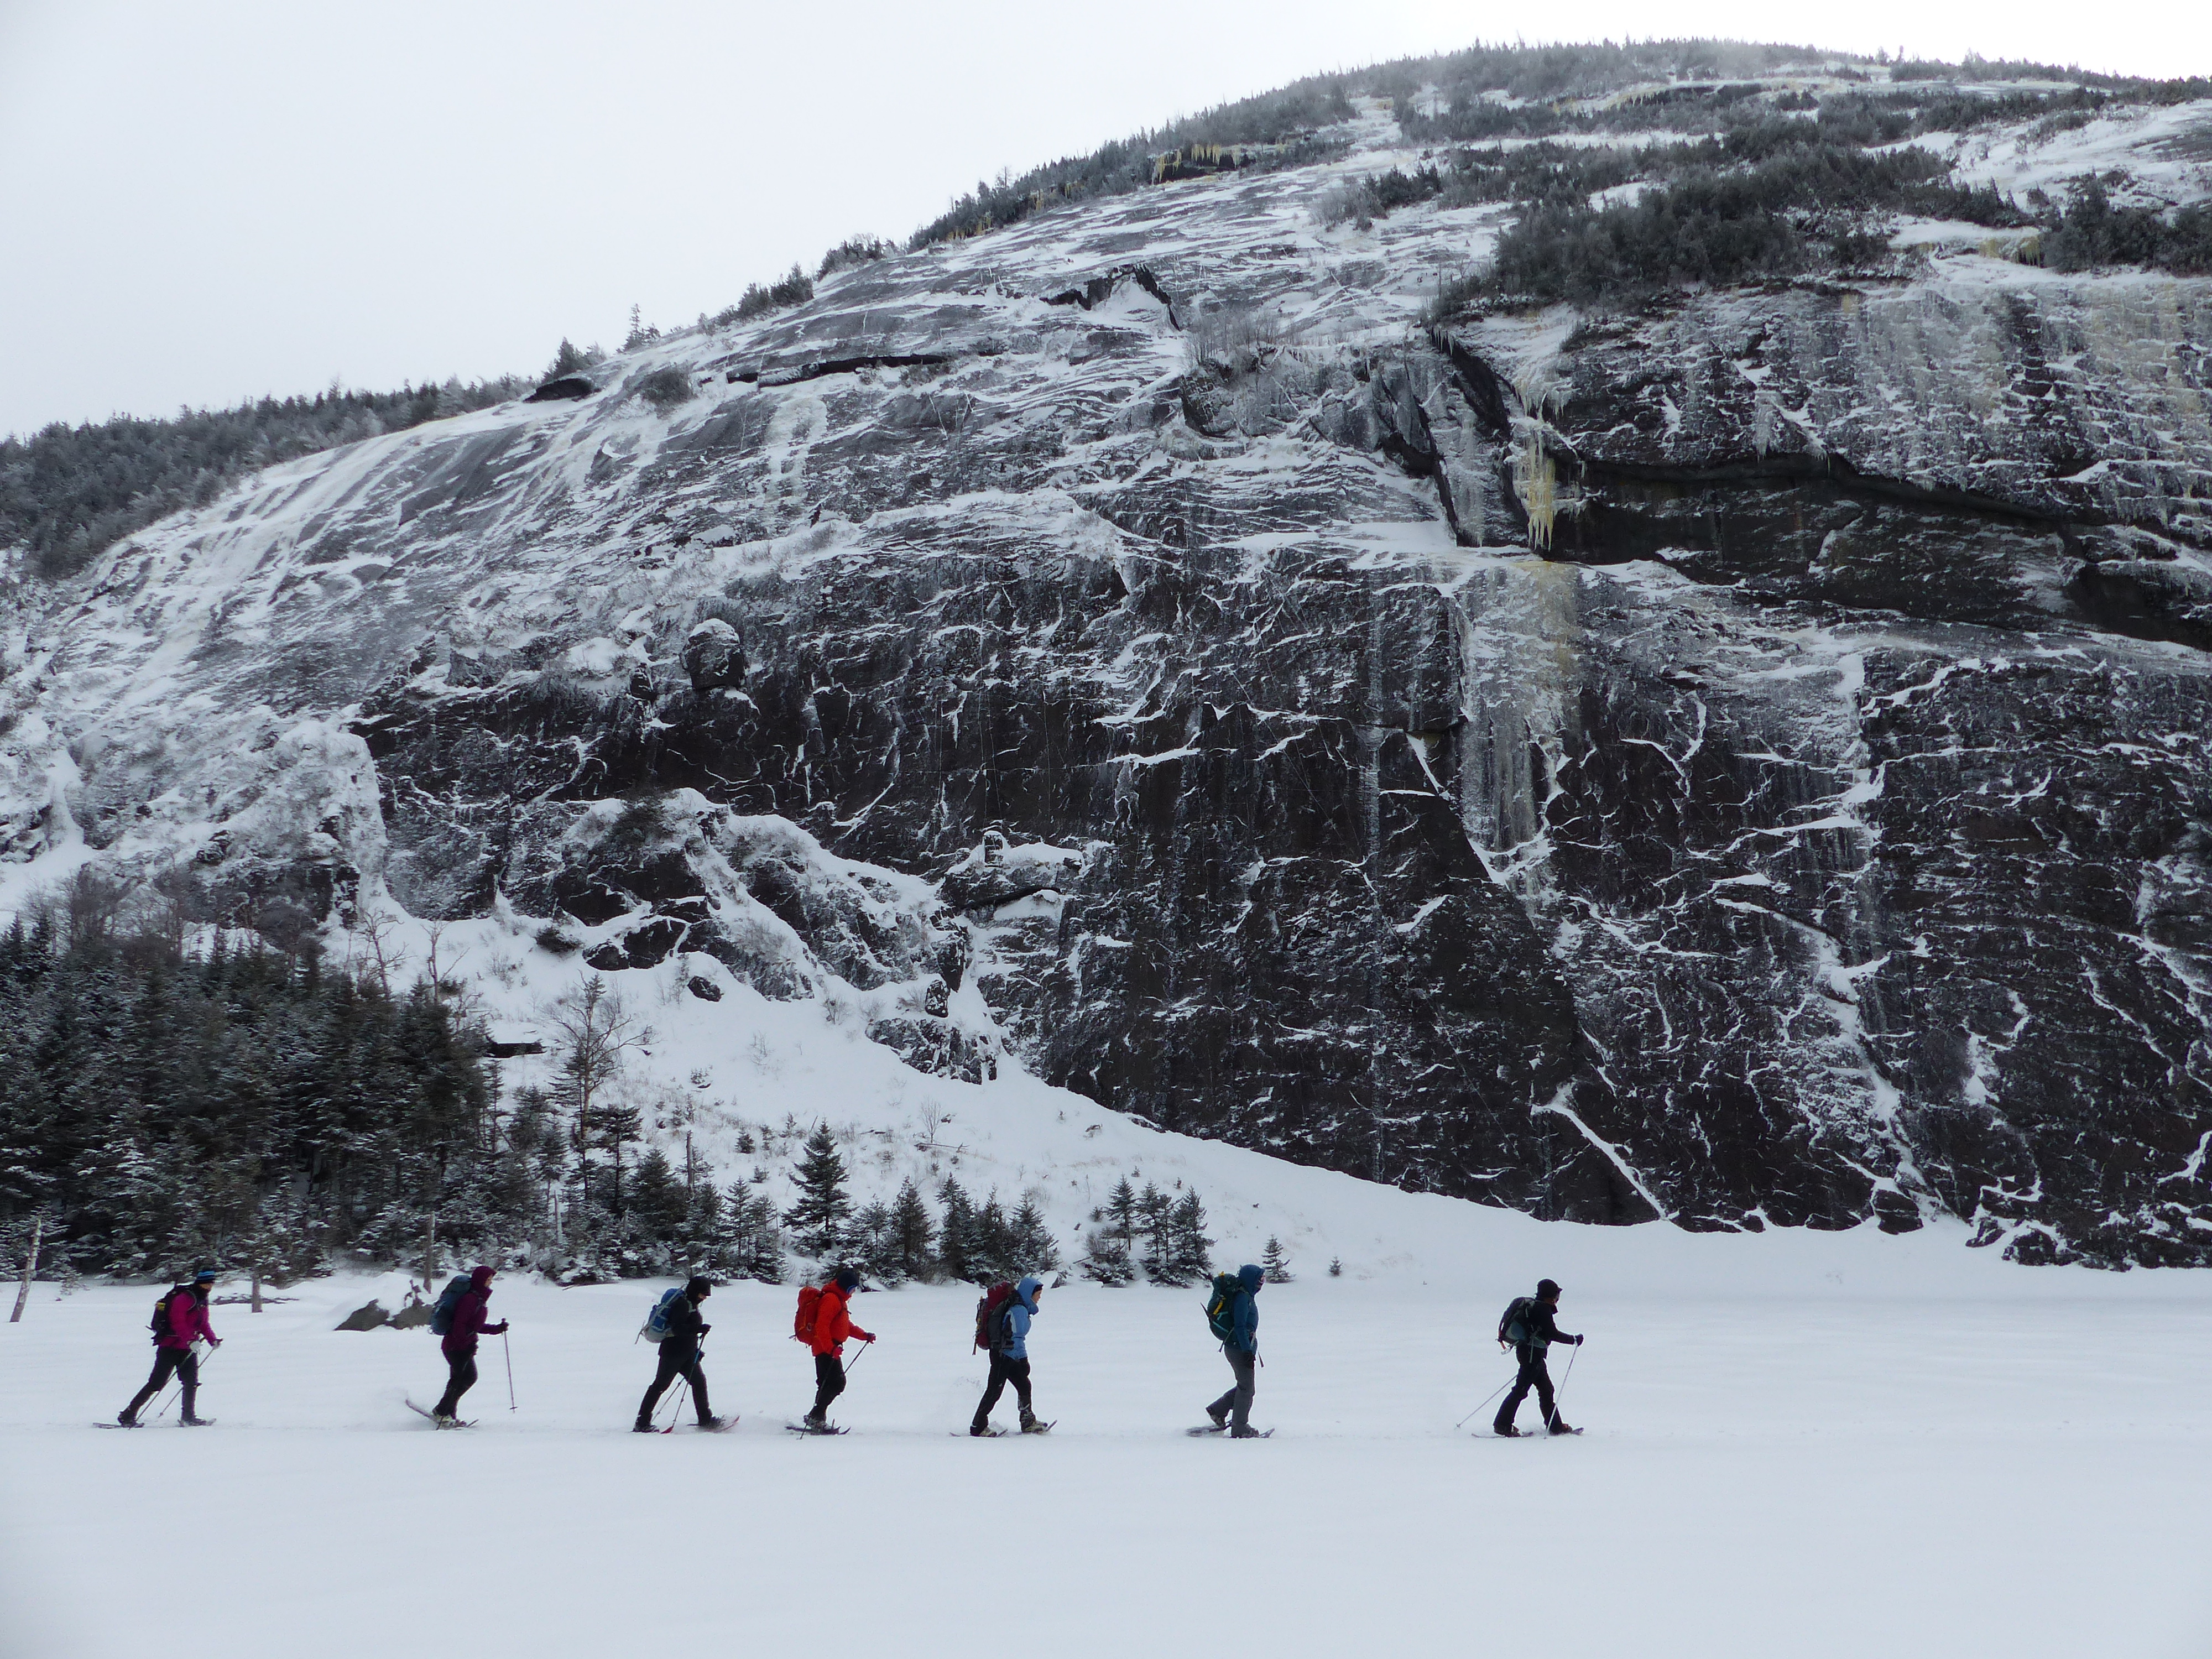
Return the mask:
[[(971, 1442), (962, 1287), (860, 1298), (883, 1343), (841, 1440), (781, 1427), (794, 1292), (726, 1287), (708, 1374), (743, 1422), (648, 1440), (657, 1285), (502, 1283), (520, 1411), (491, 1340), (482, 1427), (442, 1436), (400, 1402), (436, 1396), (434, 1338), (330, 1329), (398, 1279), (219, 1305), (201, 1433), (91, 1427), (144, 1374), (150, 1287), (42, 1285), (0, 1325), (0, 1652), (2212, 1650), (2205, 1276), (1378, 1208), (1436, 1265), (1270, 1287), (1254, 1444), (1183, 1436), (1228, 1383), (1197, 1290), (1046, 1292), (1060, 1427)], [(1590, 1334), (1588, 1433), (1478, 1438), (1486, 1407), (1453, 1433), (1537, 1272)]]

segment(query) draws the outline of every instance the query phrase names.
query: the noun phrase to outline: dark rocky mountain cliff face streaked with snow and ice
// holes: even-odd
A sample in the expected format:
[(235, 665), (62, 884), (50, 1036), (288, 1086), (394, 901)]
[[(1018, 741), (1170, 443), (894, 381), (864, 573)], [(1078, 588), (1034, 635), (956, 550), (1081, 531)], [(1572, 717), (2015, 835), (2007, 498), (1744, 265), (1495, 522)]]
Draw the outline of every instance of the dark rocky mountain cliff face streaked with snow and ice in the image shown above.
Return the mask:
[[(1949, 159), (2185, 201), (2208, 135)], [(2212, 1261), (2212, 281), (1902, 219), (1867, 276), (1431, 321), (1515, 210), (1345, 212), (1438, 146), (1323, 137), (24, 586), (0, 905), (447, 922), (509, 1024), (653, 1002), (732, 1137), (1051, 1113), (1009, 1186), (1086, 1097), (1540, 1217)]]

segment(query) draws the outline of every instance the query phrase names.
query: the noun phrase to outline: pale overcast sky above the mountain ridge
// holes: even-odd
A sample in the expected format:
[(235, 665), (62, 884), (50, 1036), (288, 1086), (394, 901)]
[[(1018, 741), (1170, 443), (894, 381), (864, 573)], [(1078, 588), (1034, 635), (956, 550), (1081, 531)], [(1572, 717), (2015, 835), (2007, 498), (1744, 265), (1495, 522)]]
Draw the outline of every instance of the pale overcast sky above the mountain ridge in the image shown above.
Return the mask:
[(2212, 73), (2212, 4), (0, 0), (0, 431), (531, 372), (1298, 75), (1730, 35)]

